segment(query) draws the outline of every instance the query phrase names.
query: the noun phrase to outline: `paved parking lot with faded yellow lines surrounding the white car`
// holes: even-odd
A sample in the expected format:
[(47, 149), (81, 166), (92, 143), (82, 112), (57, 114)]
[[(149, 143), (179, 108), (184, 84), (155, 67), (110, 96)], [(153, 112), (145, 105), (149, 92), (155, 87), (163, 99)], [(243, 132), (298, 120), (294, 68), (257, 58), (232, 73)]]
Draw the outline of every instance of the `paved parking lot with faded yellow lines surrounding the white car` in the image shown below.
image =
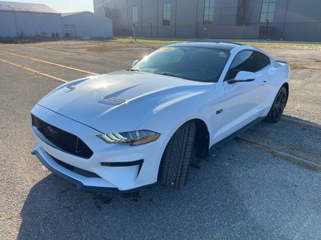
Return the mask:
[(0, 44), (0, 239), (321, 239), (320, 46), (263, 48), (292, 67), (285, 118), (195, 159), (182, 189), (83, 192), (30, 154), (29, 112), (63, 83), (50, 76), (128, 68), (161, 45)]

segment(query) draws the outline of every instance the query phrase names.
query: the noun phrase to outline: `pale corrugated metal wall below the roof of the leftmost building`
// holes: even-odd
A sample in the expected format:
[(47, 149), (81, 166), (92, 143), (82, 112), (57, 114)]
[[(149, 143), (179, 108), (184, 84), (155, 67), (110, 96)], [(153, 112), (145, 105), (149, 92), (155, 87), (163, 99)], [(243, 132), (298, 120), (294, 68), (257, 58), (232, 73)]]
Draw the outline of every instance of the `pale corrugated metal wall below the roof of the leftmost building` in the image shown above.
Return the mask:
[(16, 37), (24, 31), (26, 36), (47, 35), (58, 32), (62, 36), (60, 14), (0, 11), (0, 36)]

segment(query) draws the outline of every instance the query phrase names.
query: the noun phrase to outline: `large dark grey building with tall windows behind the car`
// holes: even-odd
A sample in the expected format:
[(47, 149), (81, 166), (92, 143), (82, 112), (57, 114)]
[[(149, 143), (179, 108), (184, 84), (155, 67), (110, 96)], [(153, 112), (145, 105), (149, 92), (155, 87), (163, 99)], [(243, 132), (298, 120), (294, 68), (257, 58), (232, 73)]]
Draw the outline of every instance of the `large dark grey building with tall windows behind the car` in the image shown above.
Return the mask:
[(94, 0), (114, 35), (321, 41), (321, 0)]

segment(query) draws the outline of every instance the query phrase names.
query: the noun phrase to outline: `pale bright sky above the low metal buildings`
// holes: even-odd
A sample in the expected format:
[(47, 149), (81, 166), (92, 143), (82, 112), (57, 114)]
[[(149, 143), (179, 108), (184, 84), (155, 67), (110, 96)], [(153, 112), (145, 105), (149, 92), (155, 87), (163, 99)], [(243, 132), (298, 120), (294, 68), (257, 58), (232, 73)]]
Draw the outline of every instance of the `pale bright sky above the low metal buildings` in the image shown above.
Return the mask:
[(42, 3), (59, 12), (94, 11), (93, 0), (6, 0), (17, 2)]

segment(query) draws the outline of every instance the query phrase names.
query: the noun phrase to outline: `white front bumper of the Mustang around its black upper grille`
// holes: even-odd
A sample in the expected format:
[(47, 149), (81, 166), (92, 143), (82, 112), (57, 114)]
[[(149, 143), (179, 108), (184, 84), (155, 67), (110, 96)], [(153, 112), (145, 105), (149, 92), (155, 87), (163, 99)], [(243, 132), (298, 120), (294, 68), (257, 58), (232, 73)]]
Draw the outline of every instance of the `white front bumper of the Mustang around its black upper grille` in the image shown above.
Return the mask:
[[(169, 136), (162, 134), (156, 141), (138, 146), (108, 144), (97, 137), (101, 132), (45, 107), (36, 105), (31, 112), (43, 121), (78, 136), (93, 151), (88, 159), (69, 154), (46, 143), (33, 130), (38, 144), (32, 153), (50, 171), (76, 184), (80, 190), (128, 192), (157, 181), (159, 163), (170, 140)], [(63, 164), (57, 163), (57, 159), (77, 169), (92, 172), (97, 177), (80, 174), (66, 168)], [(139, 159), (143, 159), (140, 165), (106, 166), (101, 164), (101, 162), (136, 162)]]

